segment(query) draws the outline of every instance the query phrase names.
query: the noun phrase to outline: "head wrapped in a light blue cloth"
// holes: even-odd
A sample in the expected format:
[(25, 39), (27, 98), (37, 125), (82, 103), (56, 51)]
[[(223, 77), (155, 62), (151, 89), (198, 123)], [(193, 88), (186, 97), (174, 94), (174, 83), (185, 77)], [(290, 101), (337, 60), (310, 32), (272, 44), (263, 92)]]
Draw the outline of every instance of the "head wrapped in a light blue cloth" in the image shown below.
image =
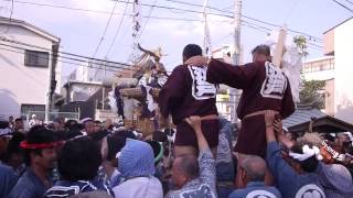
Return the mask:
[(146, 142), (128, 139), (118, 157), (118, 169), (125, 178), (153, 175), (152, 147)]

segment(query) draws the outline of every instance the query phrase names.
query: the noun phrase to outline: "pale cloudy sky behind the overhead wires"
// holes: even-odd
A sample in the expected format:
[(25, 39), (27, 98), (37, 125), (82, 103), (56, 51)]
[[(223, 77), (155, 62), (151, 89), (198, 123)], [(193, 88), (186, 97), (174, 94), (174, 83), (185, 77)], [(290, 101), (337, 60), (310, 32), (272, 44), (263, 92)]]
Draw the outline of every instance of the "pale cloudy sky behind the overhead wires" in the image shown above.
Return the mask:
[[(176, 1), (204, 3), (203, 0)], [(346, 0), (340, 1), (353, 9), (353, 3)], [(62, 51), (85, 56), (95, 54), (104, 35), (95, 57), (127, 63), (132, 52), (132, 18), (129, 15), (132, 13), (132, 6), (125, 2), (113, 0), (14, 0), (12, 18), (24, 20), (60, 37)], [(201, 7), (175, 3), (169, 0), (141, 0), (141, 2), (203, 11)], [(221, 15), (233, 15), (235, 10), (234, 0), (208, 0), (208, 4), (223, 10), (222, 12), (211, 10), (211, 12)], [(111, 15), (113, 10), (115, 14)], [(125, 10), (128, 15), (122, 15)], [(0, 0), (0, 15), (9, 18), (10, 14), (11, 1)], [(181, 64), (181, 53), (186, 44), (195, 43), (202, 46), (204, 24), (201, 13), (151, 9), (151, 7), (142, 6), (141, 14), (143, 31), (140, 44), (150, 50), (160, 46), (165, 54), (161, 62), (168, 70), (172, 70)], [(244, 0), (242, 14), (240, 41), (244, 62), (250, 61), (249, 52), (252, 48), (265, 43), (266, 36), (279, 29), (263, 22), (276, 25), (286, 24), (290, 30), (306, 33), (310, 43), (308, 48), (308, 59), (310, 59), (322, 56), (322, 33), (353, 15), (352, 12), (340, 7), (333, 0)], [(149, 15), (150, 18), (148, 18)], [(213, 48), (234, 44), (234, 20), (221, 15), (208, 15)], [(171, 18), (179, 20), (171, 20)], [(109, 25), (107, 25), (108, 21)], [(121, 26), (117, 31), (119, 23)], [(104, 34), (104, 32), (106, 33)], [(115, 35), (117, 36), (113, 42)], [(290, 42), (291, 37), (296, 35), (300, 34), (289, 32), (287, 42)], [(109, 52), (110, 45), (113, 47)], [(76, 67), (76, 65), (63, 64), (63, 76), (67, 76)]]

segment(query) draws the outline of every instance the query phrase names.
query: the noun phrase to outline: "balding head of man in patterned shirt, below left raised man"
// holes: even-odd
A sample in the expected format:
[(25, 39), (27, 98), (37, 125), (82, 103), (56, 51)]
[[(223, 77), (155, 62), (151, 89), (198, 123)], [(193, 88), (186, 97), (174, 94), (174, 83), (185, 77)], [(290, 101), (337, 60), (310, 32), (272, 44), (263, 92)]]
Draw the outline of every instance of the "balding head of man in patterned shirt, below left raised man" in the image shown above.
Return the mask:
[(172, 166), (172, 183), (182, 188), (188, 182), (199, 177), (199, 162), (194, 155), (183, 155), (174, 160)]

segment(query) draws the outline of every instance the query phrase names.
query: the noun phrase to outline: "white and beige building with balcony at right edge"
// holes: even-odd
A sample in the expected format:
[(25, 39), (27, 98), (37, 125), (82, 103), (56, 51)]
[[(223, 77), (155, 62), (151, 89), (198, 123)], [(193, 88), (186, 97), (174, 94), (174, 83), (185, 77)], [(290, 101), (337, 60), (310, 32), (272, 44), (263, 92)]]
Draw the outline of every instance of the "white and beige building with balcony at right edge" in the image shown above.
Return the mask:
[(307, 62), (304, 78), (325, 80), (325, 113), (353, 123), (353, 18), (323, 33), (324, 57)]

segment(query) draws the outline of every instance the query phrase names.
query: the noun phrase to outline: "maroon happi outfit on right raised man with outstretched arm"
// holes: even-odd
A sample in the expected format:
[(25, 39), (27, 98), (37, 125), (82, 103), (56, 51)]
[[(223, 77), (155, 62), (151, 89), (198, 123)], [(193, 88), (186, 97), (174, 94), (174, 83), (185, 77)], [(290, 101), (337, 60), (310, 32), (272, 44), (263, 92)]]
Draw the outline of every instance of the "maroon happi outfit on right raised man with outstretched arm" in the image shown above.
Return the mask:
[(268, 62), (233, 66), (212, 59), (206, 76), (207, 81), (212, 84), (225, 84), (243, 90), (237, 107), (242, 129), (235, 151), (265, 156), (264, 114), (246, 119), (244, 117), (263, 110), (278, 111), (282, 119), (293, 113), (296, 108), (286, 75)]

